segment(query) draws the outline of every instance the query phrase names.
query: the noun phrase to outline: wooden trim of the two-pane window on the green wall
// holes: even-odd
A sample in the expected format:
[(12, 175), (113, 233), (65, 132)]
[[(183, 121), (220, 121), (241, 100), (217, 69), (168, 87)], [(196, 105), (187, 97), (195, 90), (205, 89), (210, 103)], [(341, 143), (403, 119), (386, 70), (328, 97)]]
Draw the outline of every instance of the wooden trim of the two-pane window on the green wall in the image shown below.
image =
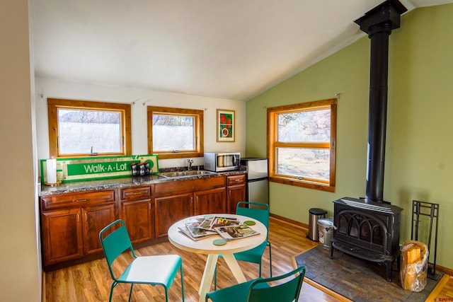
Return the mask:
[[(297, 112), (301, 110), (316, 110), (321, 108), (330, 108), (331, 110), (331, 141), (330, 144), (283, 144), (277, 141), (277, 115), (285, 112)], [(283, 105), (273, 108), (268, 108), (268, 165), (269, 165), (269, 180), (285, 185), (294, 185), (297, 187), (307, 187), (309, 189), (321, 190), (326, 192), (335, 192), (336, 186), (336, 120), (337, 120), (337, 99), (331, 98), (328, 100), (316, 100), (313, 102), (299, 103), (293, 105)], [(328, 182), (319, 180), (301, 180), (297, 177), (281, 176), (275, 174), (276, 155), (275, 149), (277, 146), (295, 146), (308, 147), (317, 146), (326, 148), (328, 145), (330, 150), (330, 175)]]

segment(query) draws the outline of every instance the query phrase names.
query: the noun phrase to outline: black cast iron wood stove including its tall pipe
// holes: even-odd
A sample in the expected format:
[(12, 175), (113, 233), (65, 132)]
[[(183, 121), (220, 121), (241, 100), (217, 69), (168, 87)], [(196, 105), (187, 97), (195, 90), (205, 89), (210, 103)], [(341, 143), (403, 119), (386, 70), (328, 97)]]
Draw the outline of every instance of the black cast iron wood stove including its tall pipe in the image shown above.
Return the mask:
[(405, 11), (398, 0), (387, 0), (355, 21), (371, 40), (366, 197), (344, 197), (333, 202), (336, 230), (331, 257), (334, 250), (340, 250), (364, 260), (384, 262), (387, 281), (391, 281), (394, 260), (399, 260), (403, 210), (383, 199), (389, 35), (399, 28)]

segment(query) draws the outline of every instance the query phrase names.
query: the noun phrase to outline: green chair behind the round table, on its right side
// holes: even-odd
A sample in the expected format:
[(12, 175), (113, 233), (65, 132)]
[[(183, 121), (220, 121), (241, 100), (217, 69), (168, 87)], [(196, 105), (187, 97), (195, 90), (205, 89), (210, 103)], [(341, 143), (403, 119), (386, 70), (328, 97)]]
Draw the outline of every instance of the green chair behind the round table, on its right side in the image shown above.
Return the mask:
[[(252, 207), (251, 207), (252, 206)], [(251, 250), (245, 250), (243, 252), (234, 253), (236, 260), (252, 262), (259, 265), (259, 277), (261, 277), (261, 260), (266, 246), (269, 247), (269, 267), (270, 267), (270, 277), (272, 277), (272, 252), (271, 245), (268, 240), (269, 236), (269, 205), (261, 204), (258, 202), (238, 202), (236, 206), (236, 214), (242, 216), (248, 216), (253, 219), (256, 219), (263, 223), (268, 229), (268, 234), (266, 240), (258, 245), (256, 248)], [(253, 228), (253, 226), (252, 226)], [(217, 268), (214, 272), (214, 289), (217, 289)]]

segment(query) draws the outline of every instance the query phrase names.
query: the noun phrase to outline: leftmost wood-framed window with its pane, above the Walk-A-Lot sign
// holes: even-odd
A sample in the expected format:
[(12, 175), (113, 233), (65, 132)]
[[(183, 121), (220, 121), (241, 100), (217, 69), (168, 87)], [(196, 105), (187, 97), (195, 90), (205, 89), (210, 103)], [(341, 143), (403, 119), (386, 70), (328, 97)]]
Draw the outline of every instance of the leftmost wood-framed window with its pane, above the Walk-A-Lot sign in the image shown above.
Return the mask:
[(131, 154), (130, 105), (48, 98), (50, 156)]

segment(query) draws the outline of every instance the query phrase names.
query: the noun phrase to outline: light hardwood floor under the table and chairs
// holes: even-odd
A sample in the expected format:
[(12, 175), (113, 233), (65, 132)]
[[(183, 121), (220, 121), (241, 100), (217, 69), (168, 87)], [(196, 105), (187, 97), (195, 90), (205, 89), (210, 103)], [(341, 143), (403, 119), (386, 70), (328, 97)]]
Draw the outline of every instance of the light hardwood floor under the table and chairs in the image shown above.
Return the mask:
[[(269, 240), (272, 243), (273, 275), (283, 274), (293, 269), (292, 257), (304, 250), (314, 248), (318, 243), (306, 238), (306, 229), (294, 226), (275, 218), (270, 219)], [(183, 257), (185, 301), (198, 301), (198, 286), (205, 269), (206, 256), (184, 252), (171, 243), (159, 243), (136, 250), (137, 255), (178, 254)], [(263, 258), (263, 277), (269, 277), (269, 256), (266, 250)], [(122, 255), (122, 261), (130, 255)], [(247, 279), (258, 277), (258, 265), (239, 262)], [(91, 302), (108, 301), (111, 285), (110, 272), (105, 259), (87, 262), (45, 273), (43, 289), (45, 302)], [(218, 263), (218, 286), (220, 288), (235, 284), (235, 279), (224, 260)], [(115, 287), (113, 301), (127, 301), (130, 286), (120, 284)], [(26, 289), (24, 289), (26, 290)], [(436, 298), (448, 298), (453, 301), (453, 279), (449, 279)], [(451, 300), (450, 300), (451, 299)], [(180, 276), (171, 286), (169, 301), (180, 301)], [(161, 286), (135, 285), (131, 301), (165, 301)], [(304, 282), (299, 301), (345, 301), (341, 297), (329, 296)], [(434, 301), (431, 300), (431, 301)], [(440, 300), (437, 300), (440, 301)]]

